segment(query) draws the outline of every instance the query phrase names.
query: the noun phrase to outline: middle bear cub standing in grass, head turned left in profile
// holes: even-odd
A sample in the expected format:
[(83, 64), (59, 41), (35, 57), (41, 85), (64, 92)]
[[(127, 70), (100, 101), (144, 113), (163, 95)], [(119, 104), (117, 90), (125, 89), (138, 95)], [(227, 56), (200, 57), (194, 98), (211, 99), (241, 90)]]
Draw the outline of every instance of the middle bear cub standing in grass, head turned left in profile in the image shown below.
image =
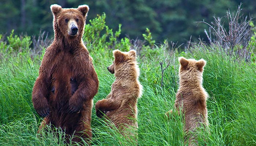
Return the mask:
[(105, 114), (104, 117), (113, 122), (123, 136), (134, 140), (136, 138), (133, 137), (136, 135), (134, 130), (138, 128), (137, 100), (142, 95), (142, 85), (138, 80), (139, 68), (136, 62), (136, 52), (114, 50), (113, 54), (114, 62), (108, 70), (114, 73), (116, 80), (106, 99), (96, 103), (96, 115), (102, 118)]

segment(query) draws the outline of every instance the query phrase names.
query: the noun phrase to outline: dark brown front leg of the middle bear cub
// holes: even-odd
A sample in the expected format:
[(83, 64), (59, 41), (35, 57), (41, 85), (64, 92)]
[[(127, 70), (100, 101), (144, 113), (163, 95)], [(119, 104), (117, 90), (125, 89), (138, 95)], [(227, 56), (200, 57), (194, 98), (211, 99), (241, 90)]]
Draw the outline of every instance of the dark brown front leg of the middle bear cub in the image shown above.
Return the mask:
[(116, 110), (118, 107), (120, 107), (120, 105), (120, 102), (114, 101), (112, 99), (99, 100), (95, 105), (96, 115), (99, 118), (102, 118), (104, 112)]

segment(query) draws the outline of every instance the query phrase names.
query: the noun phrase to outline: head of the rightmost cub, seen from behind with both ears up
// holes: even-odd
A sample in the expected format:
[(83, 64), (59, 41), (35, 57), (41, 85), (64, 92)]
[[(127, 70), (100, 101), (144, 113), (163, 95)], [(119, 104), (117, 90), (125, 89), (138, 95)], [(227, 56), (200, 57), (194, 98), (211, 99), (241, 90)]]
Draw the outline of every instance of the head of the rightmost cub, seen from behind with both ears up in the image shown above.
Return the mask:
[(200, 81), (203, 80), (203, 70), (206, 65), (204, 59), (196, 61), (195, 59), (178, 58), (180, 62), (179, 75), (182, 81)]

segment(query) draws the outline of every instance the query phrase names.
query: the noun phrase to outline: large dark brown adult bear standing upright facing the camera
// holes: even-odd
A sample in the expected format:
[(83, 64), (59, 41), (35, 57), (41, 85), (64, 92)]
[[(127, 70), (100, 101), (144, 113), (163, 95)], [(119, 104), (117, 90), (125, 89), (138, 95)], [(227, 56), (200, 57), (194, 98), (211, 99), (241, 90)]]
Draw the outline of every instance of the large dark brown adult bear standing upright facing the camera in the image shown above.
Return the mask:
[(50, 8), (54, 40), (45, 51), (32, 92), (35, 110), (45, 117), (38, 132), (51, 123), (65, 130), (68, 137), (74, 134), (73, 142), (81, 142), (81, 138), (89, 141), (93, 97), (99, 85), (92, 58), (82, 41), (89, 7), (65, 9), (54, 4)]

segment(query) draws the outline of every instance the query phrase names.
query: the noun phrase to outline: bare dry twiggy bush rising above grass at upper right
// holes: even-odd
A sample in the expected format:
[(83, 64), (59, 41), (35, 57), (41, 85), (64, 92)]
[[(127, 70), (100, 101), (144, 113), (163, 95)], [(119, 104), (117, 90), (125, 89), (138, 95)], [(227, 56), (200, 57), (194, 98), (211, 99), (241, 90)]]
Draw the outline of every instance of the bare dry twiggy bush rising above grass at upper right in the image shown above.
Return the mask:
[(220, 45), (228, 55), (235, 54), (237, 58), (248, 58), (250, 49), (247, 46), (252, 35), (250, 32), (254, 29), (254, 27), (252, 28), (250, 26), (253, 18), (251, 16), (248, 18), (241, 14), (243, 10), (241, 5), (238, 6), (236, 13), (231, 14), (229, 10), (227, 11), (224, 18), (227, 19), (228, 29), (221, 23), (221, 18), (215, 16), (214, 23), (209, 24), (204, 22), (204, 20), (197, 23), (205, 23), (213, 30), (213, 34), (215, 35), (215, 40), (213, 41), (207, 31), (204, 30), (210, 44)]

